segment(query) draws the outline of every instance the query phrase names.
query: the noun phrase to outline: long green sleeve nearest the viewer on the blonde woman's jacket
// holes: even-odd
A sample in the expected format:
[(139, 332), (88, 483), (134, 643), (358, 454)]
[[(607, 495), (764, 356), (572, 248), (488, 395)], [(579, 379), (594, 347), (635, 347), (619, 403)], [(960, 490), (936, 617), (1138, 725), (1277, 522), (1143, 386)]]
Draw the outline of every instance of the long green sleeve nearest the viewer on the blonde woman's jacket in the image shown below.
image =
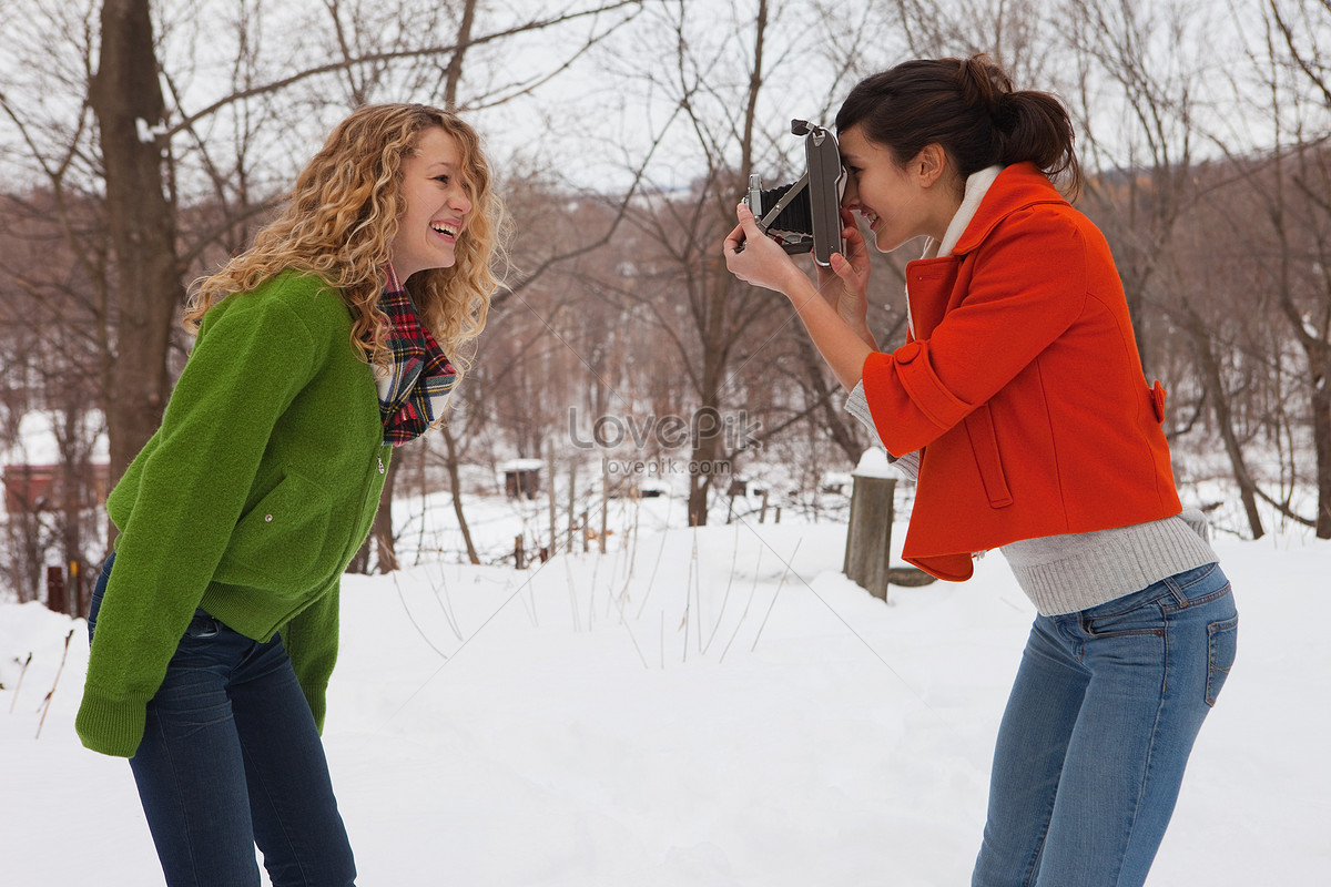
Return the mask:
[(273, 427), (318, 364), (314, 336), (281, 301), (230, 299), (205, 318), (137, 467), (75, 721), (95, 751), (132, 757), (138, 747), (148, 701), (241, 517)]

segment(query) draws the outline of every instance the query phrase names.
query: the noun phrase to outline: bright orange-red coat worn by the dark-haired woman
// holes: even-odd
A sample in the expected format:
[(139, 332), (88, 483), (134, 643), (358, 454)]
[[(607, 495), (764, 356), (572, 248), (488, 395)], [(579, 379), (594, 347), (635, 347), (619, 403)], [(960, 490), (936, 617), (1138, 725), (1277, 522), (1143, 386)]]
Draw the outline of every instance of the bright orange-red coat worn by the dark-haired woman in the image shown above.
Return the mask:
[(973, 552), (1182, 511), (1109, 245), (1034, 165), (906, 293), (913, 335), (864, 362), (884, 445), (924, 449), (906, 561), (964, 580)]

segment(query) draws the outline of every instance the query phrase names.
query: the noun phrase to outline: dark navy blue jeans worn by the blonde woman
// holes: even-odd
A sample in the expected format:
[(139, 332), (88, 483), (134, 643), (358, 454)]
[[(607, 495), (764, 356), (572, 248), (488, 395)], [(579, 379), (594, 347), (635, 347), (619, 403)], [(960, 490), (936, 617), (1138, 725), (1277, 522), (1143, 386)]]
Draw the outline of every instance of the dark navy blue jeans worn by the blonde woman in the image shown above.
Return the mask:
[[(88, 638), (114, 555), (93, 590)], [(196, 610), (129, 759), (170, 887), (345, 887), (355, 863), (323, 745), (281, 637)]]

